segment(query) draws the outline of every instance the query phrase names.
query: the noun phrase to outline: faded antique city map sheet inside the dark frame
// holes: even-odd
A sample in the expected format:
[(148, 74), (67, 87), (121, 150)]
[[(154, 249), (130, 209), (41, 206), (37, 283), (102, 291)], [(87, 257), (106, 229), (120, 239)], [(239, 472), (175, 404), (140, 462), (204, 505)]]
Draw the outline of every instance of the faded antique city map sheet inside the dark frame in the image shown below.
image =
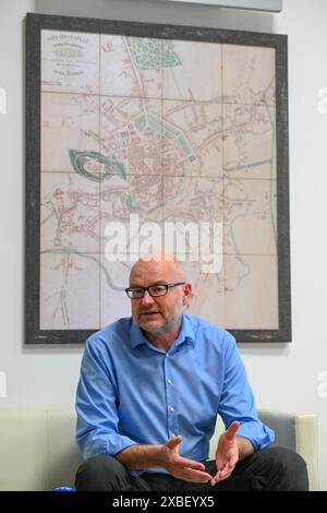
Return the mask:
[(41, 31), (40, 330), (130, 315), (106, 228), (131, 215), (220, 223), (187, 311), (278, 329), (276, 183), (274, 48)]

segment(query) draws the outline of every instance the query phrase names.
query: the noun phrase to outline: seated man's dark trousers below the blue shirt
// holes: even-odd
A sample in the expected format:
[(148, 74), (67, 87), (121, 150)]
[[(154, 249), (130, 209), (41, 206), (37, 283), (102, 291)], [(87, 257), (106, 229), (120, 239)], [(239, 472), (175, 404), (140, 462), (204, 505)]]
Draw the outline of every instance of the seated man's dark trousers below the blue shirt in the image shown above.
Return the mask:
[[(210, 461), (206, 472), (216, 474)], [(187, 482), (171, 475), (131, 472), (112, 456), (99, 455), (86, 460), (76, 473), (80, 491), (307, 491), (306, 464), (295, 452), (286, 448), (257, 451), (239, 462), (228, 479), (215, 487)]]

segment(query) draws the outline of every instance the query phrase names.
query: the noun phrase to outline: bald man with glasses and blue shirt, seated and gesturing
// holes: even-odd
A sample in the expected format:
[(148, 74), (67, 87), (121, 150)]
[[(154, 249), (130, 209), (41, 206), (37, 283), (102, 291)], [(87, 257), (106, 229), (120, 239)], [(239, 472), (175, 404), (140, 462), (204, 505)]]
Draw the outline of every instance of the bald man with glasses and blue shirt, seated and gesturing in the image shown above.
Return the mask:
[[(78, 490), (307, 490), (304, 461), (268, 448), (234, 338), (183, 313), (179, 262), (132, 267), (132, 318), (86, 343), (76, 395)], [(217, 414), (226, 432), (208, 461)]]

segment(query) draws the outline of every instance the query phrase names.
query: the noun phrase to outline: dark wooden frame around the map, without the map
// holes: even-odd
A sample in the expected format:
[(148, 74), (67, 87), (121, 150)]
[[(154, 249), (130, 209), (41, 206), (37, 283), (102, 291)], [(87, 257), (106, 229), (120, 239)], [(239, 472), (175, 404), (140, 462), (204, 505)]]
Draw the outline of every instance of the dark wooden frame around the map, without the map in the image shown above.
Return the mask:
[(203, 27), (26, 15), (25, 344), (81, 344), (94, 330), (40, 330), (40, 81), (43, 29), (210, 41), (276, 50), (276, 155), (278, 222), (277, 330), (230, 330), (238, 342), (291, 342), (287, 36)]

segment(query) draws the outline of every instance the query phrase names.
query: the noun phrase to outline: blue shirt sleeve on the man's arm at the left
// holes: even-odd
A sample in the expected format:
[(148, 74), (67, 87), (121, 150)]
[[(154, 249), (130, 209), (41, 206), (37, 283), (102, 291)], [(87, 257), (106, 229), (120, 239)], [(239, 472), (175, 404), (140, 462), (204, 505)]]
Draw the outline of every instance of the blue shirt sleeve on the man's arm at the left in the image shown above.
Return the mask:
[(85, 346), (76, 392), (76, 442), (84, 458), (114, 455), (136, 444), (119, 434), (116, 404), (114, 380), (93, 338)]

